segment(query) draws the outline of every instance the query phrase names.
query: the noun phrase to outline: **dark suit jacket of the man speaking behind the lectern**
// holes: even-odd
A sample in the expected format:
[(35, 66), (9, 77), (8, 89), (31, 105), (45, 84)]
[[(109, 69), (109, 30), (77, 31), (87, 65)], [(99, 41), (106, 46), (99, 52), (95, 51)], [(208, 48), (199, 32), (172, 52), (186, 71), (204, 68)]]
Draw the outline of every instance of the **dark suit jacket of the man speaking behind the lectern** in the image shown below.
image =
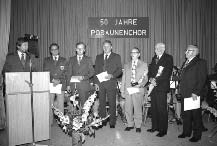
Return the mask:
[(32, 71), (36, 71), (36, 58), (34, 55), (26, 55), (26, 63), (25, 66), (23, 66), (17, 52), (8, 54), (3, 67), (3, 74), (5, 72), (29, 72), (30, 58), (32, 60)]

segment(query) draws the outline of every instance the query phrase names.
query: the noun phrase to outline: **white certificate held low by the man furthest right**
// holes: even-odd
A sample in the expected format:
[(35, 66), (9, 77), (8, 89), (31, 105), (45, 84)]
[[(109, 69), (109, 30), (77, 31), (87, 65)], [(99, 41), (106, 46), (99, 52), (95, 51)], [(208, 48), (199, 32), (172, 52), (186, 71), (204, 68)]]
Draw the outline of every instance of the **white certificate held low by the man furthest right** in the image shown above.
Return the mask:
[(192, 97), (184, 99), (184, 111), (198, 108), (200, 108), (200, 96), (197, 97), (197, 100), (193, 100)]

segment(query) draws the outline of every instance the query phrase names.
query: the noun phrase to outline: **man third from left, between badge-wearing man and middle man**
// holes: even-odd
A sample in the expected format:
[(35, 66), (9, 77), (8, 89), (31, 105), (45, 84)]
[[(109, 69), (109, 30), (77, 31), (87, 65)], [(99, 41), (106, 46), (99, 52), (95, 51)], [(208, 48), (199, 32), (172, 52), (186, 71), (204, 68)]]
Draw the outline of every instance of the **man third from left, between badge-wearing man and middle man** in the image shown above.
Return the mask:
[(67, 73), (67, 90), (78, 90), (81, 106), (89, 97), (91, 89), (89, 79), (94, 75), (93, 63), (91, 57), (85, 55), (86, 45), (83, 42), (76, 44), (76, 55), (70, 57)]

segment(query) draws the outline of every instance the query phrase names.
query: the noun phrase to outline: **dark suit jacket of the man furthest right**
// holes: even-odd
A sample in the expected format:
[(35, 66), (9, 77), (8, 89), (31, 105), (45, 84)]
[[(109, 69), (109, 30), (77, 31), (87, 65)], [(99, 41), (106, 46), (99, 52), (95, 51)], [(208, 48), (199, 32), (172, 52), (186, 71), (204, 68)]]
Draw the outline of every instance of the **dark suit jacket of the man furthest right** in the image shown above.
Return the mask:
[(192, 93), (201, 96), (206, 77), (206, 61), (198, 57), (193, 58), (181, 73), (180, 93), (182, 97), (191, 97)]

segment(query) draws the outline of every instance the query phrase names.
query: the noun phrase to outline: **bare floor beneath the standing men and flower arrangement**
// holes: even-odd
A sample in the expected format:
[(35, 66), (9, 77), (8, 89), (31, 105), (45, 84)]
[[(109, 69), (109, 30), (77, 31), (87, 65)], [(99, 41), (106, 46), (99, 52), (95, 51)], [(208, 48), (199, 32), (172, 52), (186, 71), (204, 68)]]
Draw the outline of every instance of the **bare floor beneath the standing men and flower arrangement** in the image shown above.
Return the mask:
[[(188, 141), (189, 138), (177, 138), (182, 132), (182, 126), (176, 123), (169, 124), (167, 135), (159, 138), (156, 137), (157, 132), (148, 133), (146, 131), (151, 127), (150, 119), (148, 119), (146, 125), (142, 127), (142, 132), (136, 133), (135, 129), (129, 132), (124, 131), (125, 125), (118, 117), (115, 129), (110, 129), (109, 125), (107, 125), (96, 130), (96, 137), (87, 136), (83, 146), (217, 146), (217, 134), (209, 138), (212, 129), (216, 126), (216, 122), (212, 120), (208, 121), (205, 116), (204, 124), (208, 128), (208, 131), (203, 132), (202, 139), (199, 142), (191, 143)], [(6, 138), (6, 132), (1, 130), (0, 146), (7, 146)], [(72, 146), (72, 139), (65, 135), (62, 130), (54, 124), (51, 128), (51, 140), (39, 142), (38, 144)]]

